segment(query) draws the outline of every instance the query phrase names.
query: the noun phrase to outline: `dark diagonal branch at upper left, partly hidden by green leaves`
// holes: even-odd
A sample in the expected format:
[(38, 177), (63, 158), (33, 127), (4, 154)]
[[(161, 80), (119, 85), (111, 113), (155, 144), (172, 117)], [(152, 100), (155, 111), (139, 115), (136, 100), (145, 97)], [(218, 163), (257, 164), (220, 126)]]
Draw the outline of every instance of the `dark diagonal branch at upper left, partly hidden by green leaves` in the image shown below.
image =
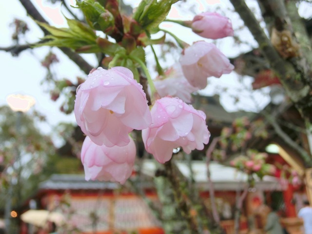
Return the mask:
[[(40, 22), (48, 23), (41, 16), (39, 11), (36, 9), (36, 7), (33, 5), (33, 3), (30, 0), (20, 0), (20, 3), (26, 9), (27, 14), (30, 15), (33, 19), (38, 20)], [(42, 31), (44, 32), (45, 35), (48, 34), (48, 32), (45, 29), (42, 29)], [(72, 50), (68, 48), (59, 48), (59, 49), (65, 55), (67, 55), (69, 59), (73, 60), (85, 74), (89, 74), (89, 72), (93, 69), (93, 67), (89, 63), (87, 63), (80, 55), (73, 52)]]

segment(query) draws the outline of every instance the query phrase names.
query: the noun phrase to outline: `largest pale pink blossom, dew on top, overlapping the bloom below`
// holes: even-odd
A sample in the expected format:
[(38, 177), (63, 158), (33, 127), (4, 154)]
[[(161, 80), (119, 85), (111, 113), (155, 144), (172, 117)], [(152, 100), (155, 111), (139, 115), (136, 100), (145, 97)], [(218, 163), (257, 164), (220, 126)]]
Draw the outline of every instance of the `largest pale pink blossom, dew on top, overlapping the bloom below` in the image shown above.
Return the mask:
[(127, 145), (133, 129), (151, 124), (142, 86), (125, 67), (90, 73), (77, 91), (74, 112), (82, 132), (108, 147)]

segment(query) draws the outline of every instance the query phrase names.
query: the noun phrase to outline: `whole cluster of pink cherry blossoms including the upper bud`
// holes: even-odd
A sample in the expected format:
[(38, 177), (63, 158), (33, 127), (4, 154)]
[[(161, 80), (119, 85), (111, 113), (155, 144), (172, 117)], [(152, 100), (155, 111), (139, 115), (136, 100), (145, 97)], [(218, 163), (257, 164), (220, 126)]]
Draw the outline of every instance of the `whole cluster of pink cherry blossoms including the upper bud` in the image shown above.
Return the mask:
[[(217, 13), (199, 14), (189, 26), (208, 39), (233, 36), (231, 22)], [(210, 137), (206, 115), (187, 103), (193, 92), (207, 86), (208, 77), (219, 78), (233, 69), (215, 44), (197, 41), (154, 80), (146, 74), (151, 106), (126, 64), (92, 70), (77, 89), (74, 107), (77, 123), (87, 136), (81, 149), (85, 178), (123, 184), (136, 158), (133, 130), (142, 130), (146, 151), (159, 163), (169, 161), (177, 147), (188, 154), (204, 149)]]

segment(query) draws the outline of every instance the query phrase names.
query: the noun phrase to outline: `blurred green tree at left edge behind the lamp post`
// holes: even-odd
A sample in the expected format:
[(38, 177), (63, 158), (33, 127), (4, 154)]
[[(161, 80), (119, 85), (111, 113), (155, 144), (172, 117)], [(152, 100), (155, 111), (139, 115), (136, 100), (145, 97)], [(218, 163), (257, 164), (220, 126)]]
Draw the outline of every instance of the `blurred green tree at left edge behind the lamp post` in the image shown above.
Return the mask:
[[(7, 106), (0, 107), (0, 167), (3, 171), (0, 174), (3, 185), (0, 199), (6, 199), (9, 181), (14, 178), (17, 182), (13, 187), (12, 201), (17, 208), (32, 195), (39, 182), (50, 175), (43, 168), (48, 158), (55, 154), (55, 147), (51, 138), (42, 134), (36, 124), (44, 120), (35, 111), (16, 113)], [(11, 168), (10, 174), (7, 168)]]

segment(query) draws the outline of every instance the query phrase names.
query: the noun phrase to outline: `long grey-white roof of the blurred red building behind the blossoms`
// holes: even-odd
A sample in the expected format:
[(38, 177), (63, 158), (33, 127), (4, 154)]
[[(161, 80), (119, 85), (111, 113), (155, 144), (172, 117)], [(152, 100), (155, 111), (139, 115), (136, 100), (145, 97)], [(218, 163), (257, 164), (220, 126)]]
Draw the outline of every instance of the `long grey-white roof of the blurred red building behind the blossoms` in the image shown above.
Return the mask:
[[(144, 160), (141, 165), (143, 175), (154, 177), (157, 169), (155, 160)], [(188, 163), (177, 161), (177, 166), (181, 173), (189, 178), (191, 171)], [(224, 166), (216, 162), (209, 164), (211, 180), (217, 191), (236, 191), (244, 189), (247, 185), (248, 175), (237, 171), (233, 167)], [(192, 161), (192, 171), (195, 182), (204, 190), (208, 190), (207, 166), (203, 161)], [(146, 181), (143, 185), (145, 188), (152, 188), (153, 183)], [(52, 175), (50, 179), (40, 183), (40, 190), (115, 190), (120, 185), (114, 182), (105, 181), (86, 181), (83, 175)], [(266, 191), (282, 190), (277, 178), (273, 176), (264, 176), (263, 180), (256, 178), (255, 188)]]

